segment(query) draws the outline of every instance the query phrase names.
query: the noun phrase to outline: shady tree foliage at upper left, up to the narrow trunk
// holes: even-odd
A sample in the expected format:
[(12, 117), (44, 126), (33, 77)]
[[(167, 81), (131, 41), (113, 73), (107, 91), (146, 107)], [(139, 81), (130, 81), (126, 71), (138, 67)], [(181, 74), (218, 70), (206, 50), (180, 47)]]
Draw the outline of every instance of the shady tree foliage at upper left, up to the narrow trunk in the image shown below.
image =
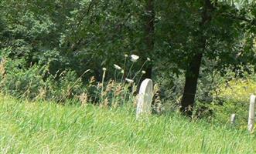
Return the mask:
[(98, 68), (142, 45), (142, 5), (135, 1), (1, 1), (0, 7), (6, 15), (0, 19), (6, 27), (1, 35), (6, 36), (1, 48), (9, 49), (5, 55), (27, 63), (49, 62), (49, 55), (58, 55), (52, 75), (65, 69), (81, 75), (90, 68), (99, 80)]

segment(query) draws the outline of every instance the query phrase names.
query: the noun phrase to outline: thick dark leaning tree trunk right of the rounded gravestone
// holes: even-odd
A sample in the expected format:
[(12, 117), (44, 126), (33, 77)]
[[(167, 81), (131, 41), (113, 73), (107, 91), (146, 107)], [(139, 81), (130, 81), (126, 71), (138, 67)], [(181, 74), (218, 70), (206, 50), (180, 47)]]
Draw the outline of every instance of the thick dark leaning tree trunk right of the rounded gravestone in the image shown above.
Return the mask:
[(210, 0), (203, 0), (203, 12), (202, 12), (202, 21), (200, 22), (200, 32), (198, 35), (198, 49), (196, 51), (196, 54), (193, 55), (191, 61), (189, 62), (189, 66), (186, 69), (186, 81), (185, 81), (185, 87), (183, 92), (183, 99), (181, 102), (181, 112), (183, 112), (185, 115), (188, 115), (189, 117), (193, 113), (193, 105), (195, 102), (195, 95), (196, 95), (196, 87), (197, 87), (197, 81), (200, 73), (200, 65), (203, 58), (203, 52), (205, 52), (207, 48), (207, 37), (203, 35), (203, 32), (205, 31), (205, 25), (207, 22), (210, 22), (211, 20), (211, 13), (213, 11), (213, 4), (210, 2)]

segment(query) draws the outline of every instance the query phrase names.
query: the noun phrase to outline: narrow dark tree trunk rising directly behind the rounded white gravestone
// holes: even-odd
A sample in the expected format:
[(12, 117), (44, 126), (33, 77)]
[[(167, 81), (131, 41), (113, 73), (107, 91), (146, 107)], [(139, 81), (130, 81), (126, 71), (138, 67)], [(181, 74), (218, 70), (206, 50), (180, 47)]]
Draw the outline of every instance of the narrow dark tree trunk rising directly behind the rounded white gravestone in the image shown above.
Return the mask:
[[(155, 33), (155, 11), (154, 11), (154, 0), (147, 0), (145, 6), (145, 54), (149, 58), (152, 58), (152, 52), (154, 52), (154, 33)], [(146, 65), (145, 75), (142, 76), (143, 79), (152, 78), (152, 63)]]

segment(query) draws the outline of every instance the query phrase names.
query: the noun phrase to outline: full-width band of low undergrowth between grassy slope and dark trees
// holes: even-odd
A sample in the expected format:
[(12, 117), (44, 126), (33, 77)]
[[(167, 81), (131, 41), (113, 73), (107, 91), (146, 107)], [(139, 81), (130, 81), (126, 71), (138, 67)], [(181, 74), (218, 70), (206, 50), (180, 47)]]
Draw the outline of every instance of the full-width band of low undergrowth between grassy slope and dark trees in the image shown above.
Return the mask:
[[(125, 62), (125, 56), (123, 60)], [(80, 105), (93, 103), (114, 108), (125, 103), (135, 105), (137, 86), (144, 73), (142, 67), (137, 70), (138, 74), (132, 75), (137, 76), (135, 80), (125, 81), (124, 74), (122, 74), (124, 70), (115, 68), (116, 71), (112, 72), (113, 79), (97, 81), (94, 76), (91, 76), (87, 82), (82, 82), (82, 76), (78, 76), (72, 70), (51, 75), (48, 65), (36, 64), (25, 68), (22, 67), (23, 62), (21, 59), (5, 59), (1, 62), (1, 92), (35, 101), (48, 100), (65, 103), (72, 99), (72, 102)], [(131, 66), (126, 68), (127, 71), (129, 69)], [(106, 73), (107, 70), (101, 71), (102, 74), (104, 72)], [(90, 71), (85, 73), (90, 73)], [(214, 75), (206, 73), (200, 78), (193, 118), (227, 124), (230, 123), (230, 115), (235, 113), (237, 115), (236, 126), (244, 129), (247, 122), (249, 95), (256, 93), (256, 75), (251, 72), (244, 74), (243, 78), (237, 78), (232, 72), (225, 76), (221, 76), (219, 72), (214, 73)], [(159, 114), (170, 111), (178, 112), (183, 84), (182, 77), (172, 80), (159, 77), (155, 81), (153, 111)]]

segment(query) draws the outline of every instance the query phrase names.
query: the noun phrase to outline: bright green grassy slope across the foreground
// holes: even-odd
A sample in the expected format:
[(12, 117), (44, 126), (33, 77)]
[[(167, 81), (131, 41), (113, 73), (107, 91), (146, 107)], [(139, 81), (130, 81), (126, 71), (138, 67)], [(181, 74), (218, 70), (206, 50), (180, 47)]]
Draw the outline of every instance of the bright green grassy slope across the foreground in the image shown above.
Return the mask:
[(256, 136), (179, 115), (135, 120), (131, 107), (26, 102), (0, 96), (1, 153), (255, 153)]

